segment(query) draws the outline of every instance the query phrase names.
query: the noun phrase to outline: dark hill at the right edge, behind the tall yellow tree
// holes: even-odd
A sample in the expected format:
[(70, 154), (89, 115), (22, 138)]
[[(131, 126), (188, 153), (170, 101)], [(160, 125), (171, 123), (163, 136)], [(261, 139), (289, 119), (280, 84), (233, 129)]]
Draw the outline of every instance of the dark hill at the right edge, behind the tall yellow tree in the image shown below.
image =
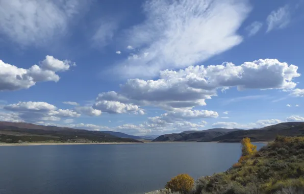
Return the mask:
[(277, 135), (302, 136), (304, 135), (304, 122), (288, 122), (261, 129), (234, 131), (215, 137), (212, 141), (240, 142), (244, 137), (249, 137), (251, 141), (270, 141), (275, 139)]

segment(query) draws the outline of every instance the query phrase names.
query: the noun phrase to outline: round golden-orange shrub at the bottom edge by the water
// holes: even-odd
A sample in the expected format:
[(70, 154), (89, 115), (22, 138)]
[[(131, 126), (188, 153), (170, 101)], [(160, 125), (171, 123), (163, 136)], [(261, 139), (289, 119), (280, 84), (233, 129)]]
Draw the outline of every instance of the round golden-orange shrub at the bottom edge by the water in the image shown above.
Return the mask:
[(173, 177), (166, 184), (167, 189), (171, 191), (180, 191), (182, 193), (188, 193), (194, 184), (194, 179), (187, 174), (181, 174), (176, 177)]

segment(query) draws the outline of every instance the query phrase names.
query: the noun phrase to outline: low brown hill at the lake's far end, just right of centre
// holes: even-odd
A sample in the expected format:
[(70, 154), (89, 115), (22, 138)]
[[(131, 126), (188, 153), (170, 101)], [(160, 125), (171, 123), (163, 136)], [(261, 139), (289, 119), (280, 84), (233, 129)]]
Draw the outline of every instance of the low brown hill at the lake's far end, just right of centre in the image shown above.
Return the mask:
[(157, 137), (153, 141), (211, 141), (213, 138), (241, 129), (214, 128), (202, 131), (184, 131)]

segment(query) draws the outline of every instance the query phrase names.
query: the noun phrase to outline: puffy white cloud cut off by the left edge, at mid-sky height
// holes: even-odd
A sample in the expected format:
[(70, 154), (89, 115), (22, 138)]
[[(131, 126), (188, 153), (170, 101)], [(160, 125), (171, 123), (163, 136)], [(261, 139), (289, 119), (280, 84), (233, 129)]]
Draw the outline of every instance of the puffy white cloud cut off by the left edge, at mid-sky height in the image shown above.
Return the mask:
[(0, 91), (27, 89), (37, 82), (58, 82), (57, 71), (68, 70), (75, 63), (60, 61), (53, 56), (46, 56), (40, 66), (33, 65), (28, 69), (18, 68), (0, 60)]

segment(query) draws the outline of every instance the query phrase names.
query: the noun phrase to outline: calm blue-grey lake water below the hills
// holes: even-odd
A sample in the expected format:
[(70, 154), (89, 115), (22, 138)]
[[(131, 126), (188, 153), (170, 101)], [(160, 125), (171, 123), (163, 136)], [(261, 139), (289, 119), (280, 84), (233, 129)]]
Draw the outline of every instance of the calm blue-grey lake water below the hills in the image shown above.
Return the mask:
[(240, 153), (211, 142), (0, 147), (0, 194), (143, 193), (225, 171)]

